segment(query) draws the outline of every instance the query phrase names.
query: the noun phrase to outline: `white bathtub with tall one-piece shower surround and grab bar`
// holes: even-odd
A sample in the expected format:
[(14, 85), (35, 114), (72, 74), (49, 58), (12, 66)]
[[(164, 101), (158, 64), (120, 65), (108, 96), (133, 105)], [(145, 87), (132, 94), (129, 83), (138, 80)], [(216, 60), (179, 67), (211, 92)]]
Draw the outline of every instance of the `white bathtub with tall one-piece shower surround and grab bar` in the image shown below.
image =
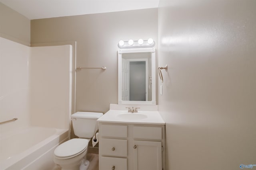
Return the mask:
[[(72, 112), (72, 46), (0, 37), (0, 169), (51, 170)], [(10, 120), (10, 121), (9, 121)]]

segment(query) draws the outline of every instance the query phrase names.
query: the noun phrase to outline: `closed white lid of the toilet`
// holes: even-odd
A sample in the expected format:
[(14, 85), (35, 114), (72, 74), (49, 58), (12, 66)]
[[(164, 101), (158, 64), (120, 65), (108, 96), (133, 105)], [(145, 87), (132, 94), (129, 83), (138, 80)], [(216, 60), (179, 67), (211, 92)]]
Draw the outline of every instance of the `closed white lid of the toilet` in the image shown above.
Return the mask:
[(66, 141), (61, 145), (59, 145), (54, 150), (54, 154), (59, 158), (70, 157), (86, 150), (88, 143), (89, 143), (88, 139), (80, 139), (80, 138), (70, 139), (69, 141)]

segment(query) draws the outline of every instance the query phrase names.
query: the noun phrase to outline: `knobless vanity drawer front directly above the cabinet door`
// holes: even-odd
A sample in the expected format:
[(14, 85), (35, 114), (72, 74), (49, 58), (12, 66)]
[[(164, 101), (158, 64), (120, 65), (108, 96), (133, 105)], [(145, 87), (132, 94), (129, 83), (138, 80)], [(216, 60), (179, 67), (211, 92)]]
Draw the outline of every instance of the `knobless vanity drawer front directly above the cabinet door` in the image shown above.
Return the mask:
[(162, 140), (162, 127), (134, 126), (133, 137), (138, 139)]

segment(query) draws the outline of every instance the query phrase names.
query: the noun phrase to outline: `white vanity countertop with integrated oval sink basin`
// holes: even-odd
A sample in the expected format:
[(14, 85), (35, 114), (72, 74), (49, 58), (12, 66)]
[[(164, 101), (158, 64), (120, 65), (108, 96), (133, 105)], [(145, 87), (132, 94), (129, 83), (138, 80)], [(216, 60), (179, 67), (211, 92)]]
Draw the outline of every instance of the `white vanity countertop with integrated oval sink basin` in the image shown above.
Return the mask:
[(127, 110), (110, 109), (97, 121), (101, 123), (107, 122), (165, 125), (165, 122), (158, 111), (138, 111), (138, 113), (128, 113)]

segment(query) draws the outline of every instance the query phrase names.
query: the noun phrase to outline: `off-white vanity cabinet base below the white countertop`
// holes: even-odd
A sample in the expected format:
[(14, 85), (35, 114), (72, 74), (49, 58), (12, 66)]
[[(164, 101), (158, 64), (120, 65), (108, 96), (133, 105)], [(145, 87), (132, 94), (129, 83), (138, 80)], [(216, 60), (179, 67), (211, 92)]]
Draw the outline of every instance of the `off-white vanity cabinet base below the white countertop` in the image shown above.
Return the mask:
[(165, 126), (99, 123), (99, 170), (164, 170)]

